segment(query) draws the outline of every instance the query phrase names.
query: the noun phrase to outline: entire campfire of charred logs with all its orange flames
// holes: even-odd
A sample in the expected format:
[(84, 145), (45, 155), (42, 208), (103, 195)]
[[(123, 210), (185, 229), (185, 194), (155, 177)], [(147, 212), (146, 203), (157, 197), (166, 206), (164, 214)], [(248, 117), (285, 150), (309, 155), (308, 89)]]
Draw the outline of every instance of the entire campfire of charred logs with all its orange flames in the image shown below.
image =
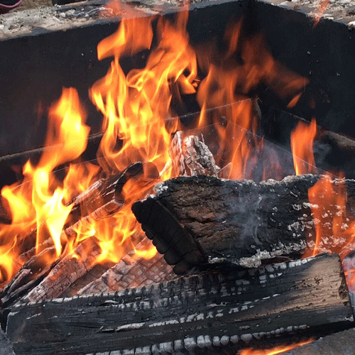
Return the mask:
[[(122, 21), (99, 43), (100, 60), (115, 56), (90, 91), (104, 116), (99, 165), (72, 164), (58, 179), (89, 134), (67, 89), (49, 114), (58, 154), (45, 150), (22, 183), (2, 190), (4, 354), (236, 354), (354, 327), (355, 180), (318, 175), (315, 121), (291, 137), (295, 176), (280, 172), (256, 129), (250, 92), (260, 82), (292, 107), (307, 80), (258, 36), (241, 38), (241, 22), (227, 31), (220, 65), (207, 65), (186, 16)], [(148, 49), (143, 70), (124, 73), (122, 56)], [(202, 80), (197, 59), (209, 66)], [(170, 106), (192, 94), (202, 113), (188, 131)]]

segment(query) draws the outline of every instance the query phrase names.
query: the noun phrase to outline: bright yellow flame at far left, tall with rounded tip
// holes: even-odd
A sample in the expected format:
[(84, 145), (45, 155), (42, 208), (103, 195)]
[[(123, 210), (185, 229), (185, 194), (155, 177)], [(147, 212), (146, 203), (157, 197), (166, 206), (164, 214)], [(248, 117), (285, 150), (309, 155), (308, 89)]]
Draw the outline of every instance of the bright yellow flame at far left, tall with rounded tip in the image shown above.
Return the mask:
[[(60, 100), (50, 107), (48, 133), (37, 165), (28, 161), (23, 167), (23, 182), (1, 190), (9, 206), (12, 222), (1, 225), (1, 280), (9, 280), (21, 266), (18, 246), (30, 244), (26, 239), (35, 231), (35, 251), (48, 237), (53, 239), (55, 256), (62, 253), (60, 235), (71, 207), (63, 204), (65, 192), (53, 171), (59, 165), (78, 158), (85, 150), (89, 127), (84, 125), (85, 114), (79, 96), (73, 88), (63, 89)], [(50, 261), (48, 261), (50, 262)], [(15, 267), (16, 265), (16, 267)]]

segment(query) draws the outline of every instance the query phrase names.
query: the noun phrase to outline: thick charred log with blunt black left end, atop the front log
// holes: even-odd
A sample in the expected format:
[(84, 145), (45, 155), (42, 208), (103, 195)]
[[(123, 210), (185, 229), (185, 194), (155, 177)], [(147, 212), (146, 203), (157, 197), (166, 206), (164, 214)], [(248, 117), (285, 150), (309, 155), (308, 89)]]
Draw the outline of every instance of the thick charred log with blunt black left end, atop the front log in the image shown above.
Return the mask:
[[(257, 184), (180, 177), (157, 185), (156, 195), (134, 203), (132, 211), (178, 273), (207, 259), (253, 267), (263, 259), (302, 254), (306, 241), (314, 238), (308, 189), (319, 179), (299, 175)], [(355, 181), (345, 180), (345, 185), (347, 204), (354, 206)], [(349, 214), (354, 217), (354, 210), (349, 208)]]

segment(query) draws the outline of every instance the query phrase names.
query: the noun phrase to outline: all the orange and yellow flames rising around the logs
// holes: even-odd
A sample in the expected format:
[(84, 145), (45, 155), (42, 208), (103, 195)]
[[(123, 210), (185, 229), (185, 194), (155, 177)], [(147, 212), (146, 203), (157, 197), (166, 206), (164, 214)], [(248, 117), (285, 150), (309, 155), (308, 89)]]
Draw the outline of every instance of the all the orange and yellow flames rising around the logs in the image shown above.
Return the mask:
[[(122, 5), (111, 5), (110, 12), (121, 10)], [(129, 13), (128, 8), (124, 11)], [(48, 240), (53, 242), (55, 252), (43, 260), (46, 264), (73, 253), (88, 238), (95, 238), (101, 249), (97, 263), (116, 263), (129, 249), (135, 250), (137, 256), (153, 257), (154, 248), (135, 249), (131, 241), (131, 236), (143, 233), (131, 213), (131, 204), (143, 199), (148, 187), (125, 187), (124, 207), (113, 217), (78, 229), (75, 238), (70, 239), (62, 230), (72, 209), (68, 202), (87, 190), (100, 171), (111, 175), (142, 161), (158, 168), (160, 181), (173, 178), (168, 152), (176, 131), (188, 128), (191, 134), (213, 136), (209, 148), (217, 165), (231, 163), (230, 179), (250, 178), (261, 155), (262, 178), (283, 178), (275, 156), (262, 154), (265, 142), (258, 136), (257, 97), (251, 93), (268, 87), (293, 107), (308, 80), (273, 60), (262, 35), (244, 36), (242, 21), (227, 28), (223, 45), (215, 41), (194, 47), (186, 31), (187, 16), (185, 6), (174, 20), (143, 15), (123, 19), (118, 31), (99, 43), (99, 60), (113, 58), (107, 75), (89, 90), (92, 102), (103, 115), (104, 134), (97, 152), (99, 165), (71, 163), (86, 149), (90, 130), (76, 89), (63, 89), (60, 100), (50, 107), (46, 146), (54, 148), (45, 150), (36, 165), (28, 161), (23, 166), (23, 181), (1, 190), (11, 224), (0, 226), (0, 288), (26, 261), (25, 248), (30, 246), (40, 253)], [(120, 60), (128, 56), (141, 58), (143, 65), (124, 72)], [(178, 118), (186, 97), (195, 97), (201, 111), (188, 127)], [(310, 126), (297, 126), (293, 132), (297, 174), (315, 172), (310, 168), (315, 165), (312, 157), (315, 132), (315, 121)], [(309, 138), (305, 138), (306, 133)], [(64, 180), (59, 179), (55, 171), (68, 163)], [(320, 183), (327, 184), (327, 180)], [(331, 190), (324, 186), (314, 188)], [(337, 197), (334, 191), (329, 193), (330, 202), (344, 206), (346, 192), (341, 186)], [(310, 191), (310, 199), (316, 197), (317, 192)], [(353, 227), (346, 231), (337, 229), (342, 217), (342, 213), (337, 214), (334, 235), (346, 238), (349, 243)], [(314, 253), (320, 248), (321, 238), (317, 236)]]

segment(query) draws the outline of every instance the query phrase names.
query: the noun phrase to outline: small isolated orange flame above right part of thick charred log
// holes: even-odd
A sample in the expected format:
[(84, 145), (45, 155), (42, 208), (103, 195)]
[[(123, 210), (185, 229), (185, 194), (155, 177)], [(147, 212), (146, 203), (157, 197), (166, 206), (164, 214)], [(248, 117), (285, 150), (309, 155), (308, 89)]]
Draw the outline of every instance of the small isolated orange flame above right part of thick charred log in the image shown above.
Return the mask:
[(313, 155), (316, 133), (315, 119), (312, 119), (310, 124), (298, 122), (296, 128), (291, 132), (291, 151), (296, 175), (317, 173), (315, 156)]

